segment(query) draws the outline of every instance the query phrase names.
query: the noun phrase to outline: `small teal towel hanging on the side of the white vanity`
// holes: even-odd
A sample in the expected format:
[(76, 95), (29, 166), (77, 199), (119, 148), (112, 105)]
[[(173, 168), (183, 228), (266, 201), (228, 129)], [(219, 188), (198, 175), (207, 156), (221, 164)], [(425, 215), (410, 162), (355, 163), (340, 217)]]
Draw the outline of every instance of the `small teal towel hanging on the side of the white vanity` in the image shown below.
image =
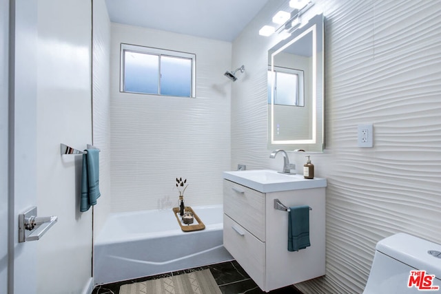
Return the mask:
[(309, 242), (309, 206), (289, 207), (288, 251), (299, 251), (311, 246)]

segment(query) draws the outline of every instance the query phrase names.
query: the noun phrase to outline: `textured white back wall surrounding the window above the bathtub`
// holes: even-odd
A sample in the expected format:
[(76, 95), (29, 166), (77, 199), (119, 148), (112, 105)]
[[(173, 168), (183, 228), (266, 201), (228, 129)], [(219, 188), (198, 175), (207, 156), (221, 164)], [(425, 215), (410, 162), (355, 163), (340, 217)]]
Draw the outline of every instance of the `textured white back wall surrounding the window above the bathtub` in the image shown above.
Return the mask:
[[(196, 54), (196, 98), (119, 92), (120, 43)], [(230, 167), (232, 44), (112, 23), (112, 211), (222, 203)], [(236, 65), (235, 65), (236, 66)]]

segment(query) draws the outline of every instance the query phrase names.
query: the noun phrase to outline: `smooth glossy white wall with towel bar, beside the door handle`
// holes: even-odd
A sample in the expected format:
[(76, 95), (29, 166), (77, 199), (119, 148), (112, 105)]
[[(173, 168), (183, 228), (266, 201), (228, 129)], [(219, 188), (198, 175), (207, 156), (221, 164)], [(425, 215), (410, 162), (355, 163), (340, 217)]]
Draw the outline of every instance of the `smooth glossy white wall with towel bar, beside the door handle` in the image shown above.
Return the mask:
[(61, 143), (92, 143), (91, 17), (90, 0), (38, 2), (37, 204), (39, 216), (59, 220), (34, 242), (37, 293), (92, 286), (92, 209), (79, 211), (81, 156), (60, 155)]

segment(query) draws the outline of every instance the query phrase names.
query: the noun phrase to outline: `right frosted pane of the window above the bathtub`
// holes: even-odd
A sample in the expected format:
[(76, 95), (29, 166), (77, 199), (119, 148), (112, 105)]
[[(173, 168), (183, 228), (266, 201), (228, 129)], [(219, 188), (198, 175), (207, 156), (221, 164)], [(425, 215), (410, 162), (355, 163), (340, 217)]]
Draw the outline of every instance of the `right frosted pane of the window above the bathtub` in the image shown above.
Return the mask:
[(184, 97), (192, 94), (192, 59), (161, 56), (161, 94)]

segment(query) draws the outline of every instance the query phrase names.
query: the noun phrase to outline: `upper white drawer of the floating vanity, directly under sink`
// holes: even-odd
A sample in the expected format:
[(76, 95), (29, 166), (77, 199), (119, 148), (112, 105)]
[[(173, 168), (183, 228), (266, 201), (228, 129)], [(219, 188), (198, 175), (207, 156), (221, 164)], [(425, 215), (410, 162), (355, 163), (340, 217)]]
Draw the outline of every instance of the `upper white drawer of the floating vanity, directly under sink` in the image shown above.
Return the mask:
[(265, 242), (265, 193), (224, 180), (223, 211)]

